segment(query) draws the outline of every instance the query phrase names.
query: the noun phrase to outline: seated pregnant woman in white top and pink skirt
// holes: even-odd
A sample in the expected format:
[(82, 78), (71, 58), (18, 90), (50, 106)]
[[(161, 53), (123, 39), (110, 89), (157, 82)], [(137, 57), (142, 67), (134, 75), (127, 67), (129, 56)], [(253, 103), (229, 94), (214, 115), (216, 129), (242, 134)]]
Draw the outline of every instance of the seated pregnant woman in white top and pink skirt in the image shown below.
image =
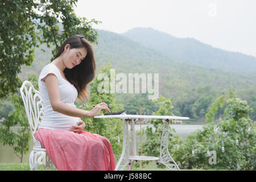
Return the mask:
[(114, 170), (115, 159), (109, 140), (84, 131), (80, 118), (93, 118), (102, 109), (101, 102), (92, 110), (76, 108), (77, 96), (84, 101), (86, 86), (94, 78), (95, 61), (90, 42), (74, 35), (61, 46), (55, 59), (39, 75), (39, 90), (44, 117), (36, 140), (46, 148), (58, 170)]

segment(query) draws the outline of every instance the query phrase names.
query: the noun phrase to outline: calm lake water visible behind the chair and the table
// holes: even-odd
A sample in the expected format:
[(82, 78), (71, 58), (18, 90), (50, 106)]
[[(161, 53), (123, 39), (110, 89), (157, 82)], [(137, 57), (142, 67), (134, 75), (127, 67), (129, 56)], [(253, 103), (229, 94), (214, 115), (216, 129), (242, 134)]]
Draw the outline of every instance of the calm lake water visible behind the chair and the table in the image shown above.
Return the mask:
[[(145, 128), (148, 125), (142, 125), (142, 129)], [(175, 129), (176, 133), (175, 135), (179, 135), (180, 137), (187, 137), (189, 133), (192, 133), (196, 130), (203, 129), (204, 125), (171, 125), (172, 128)], [(140, 130), (140, 125), (135, 125), (135, 131)], [(139, 137), (137, 136), (137, 143), (139, 142)], [(143, 142), (143, 140), (142, 140)], [(32, 145), (32, 143), (31, 143)], [(138, 148), (137, 148), (138, 150)], [(30, 151), (23, 156), (23, 163), (28, 163)], [(0, 143), (0, 163), (20, 163), (20, 159), (18, 156), (14, 154), (13, 148), (10, 146), (3, 146), (2, 143)]]

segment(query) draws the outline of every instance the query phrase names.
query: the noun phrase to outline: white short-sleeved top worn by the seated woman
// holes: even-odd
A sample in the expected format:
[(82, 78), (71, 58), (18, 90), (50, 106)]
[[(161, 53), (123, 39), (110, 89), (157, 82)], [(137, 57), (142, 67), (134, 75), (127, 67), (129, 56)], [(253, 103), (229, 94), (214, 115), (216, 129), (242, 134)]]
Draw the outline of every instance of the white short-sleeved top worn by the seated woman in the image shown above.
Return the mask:
[(70, 82), (65, 80), (61, 75), (59, 69), (55, 64), (47, 64), (41, 71), (38, 79), (39, 91), (42, 96), (42, 102), (44, 106), (43, 119), (39, 129), (51, 129), (51, 130), (67, 130), (71, 129), (71, 126), (77, 125), (79, 118), (71, 117), (69, 115), (61, 114), (53, 111), (51, 102), (49, 101), (49, 95), (46, 88), (46, 83), (42, 81), (49, 73), (53, 73), (59, 81), (60, 101), (69, 106), (76, 107), (75, 101), (77, 98), (77, 90)]

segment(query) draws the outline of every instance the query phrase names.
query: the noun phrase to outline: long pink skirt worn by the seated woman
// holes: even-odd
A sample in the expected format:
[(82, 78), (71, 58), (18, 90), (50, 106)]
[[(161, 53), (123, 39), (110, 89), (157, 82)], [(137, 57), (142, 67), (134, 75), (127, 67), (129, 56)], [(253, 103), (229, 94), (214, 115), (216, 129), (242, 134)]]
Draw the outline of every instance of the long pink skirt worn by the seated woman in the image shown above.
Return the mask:
[(39, 129), (36, 140), (59, 171), (112, 171), (115, 158), (109, 139), (81, 131)]

